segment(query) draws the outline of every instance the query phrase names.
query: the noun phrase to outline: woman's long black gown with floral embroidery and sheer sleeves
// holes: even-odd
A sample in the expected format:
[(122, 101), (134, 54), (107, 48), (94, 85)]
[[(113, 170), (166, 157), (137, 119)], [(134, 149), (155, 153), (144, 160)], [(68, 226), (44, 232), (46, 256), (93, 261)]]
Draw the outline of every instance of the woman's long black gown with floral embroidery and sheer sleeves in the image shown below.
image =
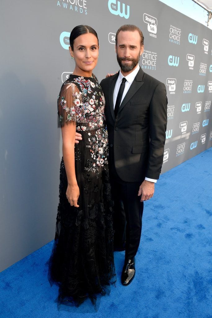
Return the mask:
[(83, 140), (75, 146), (79, 208), (70, 206), (66, 198), (67, 176), (61, 161), (48, 278), (59, 286), (58, 304), (79, 306), (87, 297), (95, 304), (97, 295), (108, 294), (110, 283), (116, 281), (105, 100), (95, 75), (70, 75), (57, 105), (58, 126), (75, 121)]

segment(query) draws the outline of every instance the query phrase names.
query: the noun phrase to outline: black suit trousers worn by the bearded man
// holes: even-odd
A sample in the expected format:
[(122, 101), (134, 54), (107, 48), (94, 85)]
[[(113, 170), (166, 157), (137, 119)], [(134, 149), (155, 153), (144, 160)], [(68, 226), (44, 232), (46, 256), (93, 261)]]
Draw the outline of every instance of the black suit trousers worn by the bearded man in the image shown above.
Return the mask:
[(138, 197), (140, 182), (125, 182), (116, 173), (114, 160), (110, 166), (110, 183), (114, 200), (114, 245), (125, 245), (125, 259), (136, 256), (142, 229), (143, 202)]

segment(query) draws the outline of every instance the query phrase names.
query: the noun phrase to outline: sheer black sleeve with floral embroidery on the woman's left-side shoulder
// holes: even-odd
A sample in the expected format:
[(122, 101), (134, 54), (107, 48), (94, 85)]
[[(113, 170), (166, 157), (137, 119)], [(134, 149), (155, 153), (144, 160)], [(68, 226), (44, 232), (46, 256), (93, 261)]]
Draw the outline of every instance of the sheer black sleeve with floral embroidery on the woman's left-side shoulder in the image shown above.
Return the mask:
[(57, 98), (58, 127), (76, 122), (76, 106), (81, 105), (81, 94), (74, 83), (67, 83), (61, 87)]

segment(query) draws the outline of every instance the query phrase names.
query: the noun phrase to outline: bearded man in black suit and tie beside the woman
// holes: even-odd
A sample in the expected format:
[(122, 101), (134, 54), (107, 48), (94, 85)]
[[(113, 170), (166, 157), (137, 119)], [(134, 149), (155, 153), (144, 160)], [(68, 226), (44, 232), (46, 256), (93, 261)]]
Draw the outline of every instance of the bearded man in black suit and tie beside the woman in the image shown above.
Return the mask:
[(115, 203), (114, 246), (119, 251), (125, 248), (121, 280), (127, 286), (135, 276), (143, 201), (153, 197), (161, 172), (167, 96), (165, 85), (138, 65), (143, 53), (143, 34), (138, 27), (121, 26), (115, 48), (121, 70), (103, 79), (100, 85), (105, 96), (109, 172)]

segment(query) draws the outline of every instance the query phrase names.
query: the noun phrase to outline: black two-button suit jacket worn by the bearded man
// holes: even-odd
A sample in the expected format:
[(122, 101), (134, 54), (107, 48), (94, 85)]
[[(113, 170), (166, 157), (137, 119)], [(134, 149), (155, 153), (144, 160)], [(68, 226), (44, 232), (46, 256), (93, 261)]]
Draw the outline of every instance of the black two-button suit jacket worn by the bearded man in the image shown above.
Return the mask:
[(113, 93), (119, 73), (100, 83), (105, 96), (109, 164), (126, 182), (158, 179), (167, 125), (166, 87), (139, 69), (115, 118)]

